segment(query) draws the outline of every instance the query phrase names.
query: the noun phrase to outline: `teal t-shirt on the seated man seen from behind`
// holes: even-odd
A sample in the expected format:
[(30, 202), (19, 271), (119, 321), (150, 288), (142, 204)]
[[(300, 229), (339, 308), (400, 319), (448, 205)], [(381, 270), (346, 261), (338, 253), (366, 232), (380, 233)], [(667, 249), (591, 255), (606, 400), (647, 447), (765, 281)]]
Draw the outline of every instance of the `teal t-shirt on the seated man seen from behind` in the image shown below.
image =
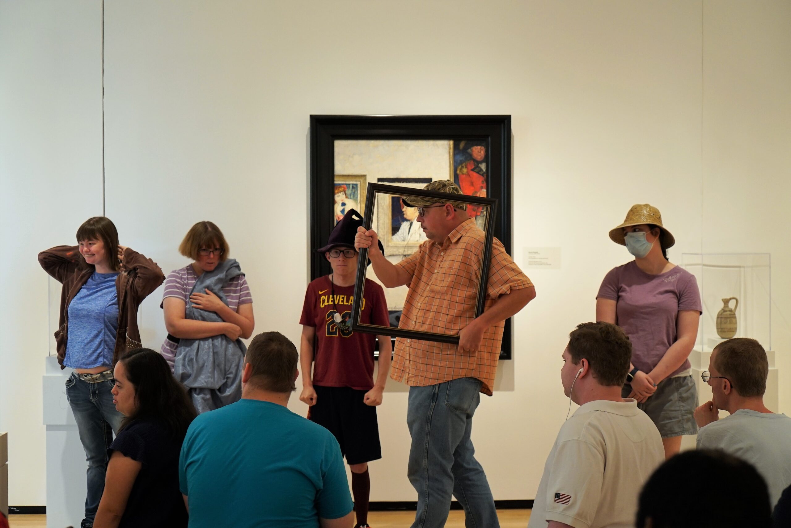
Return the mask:
[(179, 461), (190, 528), (316, 528), (351, 501), (335, 436), (282, 405), (242, 399), (202, 413)]

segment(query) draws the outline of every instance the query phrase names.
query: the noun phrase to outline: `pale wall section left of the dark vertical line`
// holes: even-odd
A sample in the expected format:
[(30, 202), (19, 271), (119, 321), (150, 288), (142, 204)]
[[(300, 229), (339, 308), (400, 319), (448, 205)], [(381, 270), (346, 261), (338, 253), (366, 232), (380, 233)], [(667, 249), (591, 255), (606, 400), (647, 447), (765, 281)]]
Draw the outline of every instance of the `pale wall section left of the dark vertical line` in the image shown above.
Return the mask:
[(0, 430), (15, 506), (46, 503), (41, 376), (55, 329), (36, 255), (102, 213), (101, 137), (100, 3), (0, 2)]

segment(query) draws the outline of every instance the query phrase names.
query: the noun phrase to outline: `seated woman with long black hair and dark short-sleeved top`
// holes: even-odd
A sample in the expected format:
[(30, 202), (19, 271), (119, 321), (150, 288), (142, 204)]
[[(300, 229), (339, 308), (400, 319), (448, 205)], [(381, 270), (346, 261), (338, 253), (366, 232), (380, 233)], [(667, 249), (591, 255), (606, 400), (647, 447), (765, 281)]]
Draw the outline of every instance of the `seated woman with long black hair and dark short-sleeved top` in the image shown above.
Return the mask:
[(187, 526), (179, 454), (195, 407), (165, 358), (134, 349), (115, 364), (113, 403), (125, 418), (110, 462), (95, 528)]

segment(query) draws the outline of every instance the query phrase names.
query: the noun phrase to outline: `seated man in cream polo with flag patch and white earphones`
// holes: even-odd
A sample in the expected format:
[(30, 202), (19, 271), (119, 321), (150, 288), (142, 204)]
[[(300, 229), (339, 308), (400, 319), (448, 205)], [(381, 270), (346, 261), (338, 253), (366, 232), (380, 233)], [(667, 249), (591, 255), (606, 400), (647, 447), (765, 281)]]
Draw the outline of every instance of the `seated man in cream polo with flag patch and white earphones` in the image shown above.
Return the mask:
[(580, 408), (558, 432), (528, 528), (630, 528), (642, 485), (664, 462), (657, 426), (621, 398), (632, 345), (618, 326), (584, 322), (563, 351), (563, 391)]

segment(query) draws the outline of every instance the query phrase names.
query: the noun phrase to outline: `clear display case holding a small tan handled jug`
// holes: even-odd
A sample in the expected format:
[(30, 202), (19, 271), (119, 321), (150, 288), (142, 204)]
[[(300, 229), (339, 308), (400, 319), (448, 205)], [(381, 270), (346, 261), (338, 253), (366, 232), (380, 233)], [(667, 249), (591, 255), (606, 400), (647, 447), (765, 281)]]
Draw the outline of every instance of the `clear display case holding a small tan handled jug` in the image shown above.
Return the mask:
[(698, 280), (703, 314), (695, 348), (711, 352), (729, 338), (754, 338), (771, 350), (769, 253), (683, 253)]

